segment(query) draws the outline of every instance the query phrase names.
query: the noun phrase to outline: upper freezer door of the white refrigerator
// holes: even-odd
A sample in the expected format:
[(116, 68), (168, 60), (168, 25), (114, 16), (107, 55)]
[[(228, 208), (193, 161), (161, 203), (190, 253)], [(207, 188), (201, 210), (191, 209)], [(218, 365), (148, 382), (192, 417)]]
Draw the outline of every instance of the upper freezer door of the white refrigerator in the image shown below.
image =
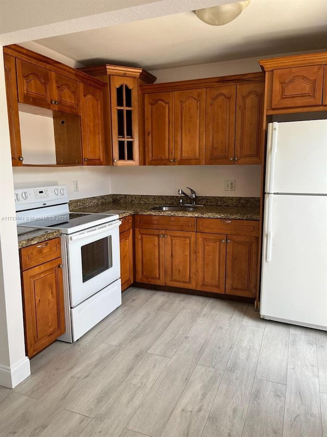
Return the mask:
[(269, 123), (265, 192), (327, 194), (327, 120)]

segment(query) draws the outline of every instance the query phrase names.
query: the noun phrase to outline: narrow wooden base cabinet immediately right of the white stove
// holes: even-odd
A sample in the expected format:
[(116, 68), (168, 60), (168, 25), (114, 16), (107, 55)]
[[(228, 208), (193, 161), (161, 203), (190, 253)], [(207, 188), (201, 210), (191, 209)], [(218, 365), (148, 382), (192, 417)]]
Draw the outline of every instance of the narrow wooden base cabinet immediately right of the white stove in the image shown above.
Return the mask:
[(133, 217), (122, 218), (120, 225), (120, 257), (122, 292), (134, 282)]

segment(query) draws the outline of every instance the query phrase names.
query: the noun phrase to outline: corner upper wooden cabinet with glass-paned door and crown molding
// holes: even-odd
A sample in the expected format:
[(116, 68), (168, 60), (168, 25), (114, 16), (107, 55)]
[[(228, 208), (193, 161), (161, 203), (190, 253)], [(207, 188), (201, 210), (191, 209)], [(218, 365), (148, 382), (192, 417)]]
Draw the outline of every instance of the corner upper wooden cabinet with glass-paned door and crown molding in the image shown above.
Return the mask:
[(83, 67), (79, 70), (108, 84), (104, 104), (104, 127), (106, 148), (111, 148), (112, 144), (112, 152), (106, 163), (143, 165), (144, 96), (139, 86), (153, 84), (156, 77), (142, 68), (108, 64)]

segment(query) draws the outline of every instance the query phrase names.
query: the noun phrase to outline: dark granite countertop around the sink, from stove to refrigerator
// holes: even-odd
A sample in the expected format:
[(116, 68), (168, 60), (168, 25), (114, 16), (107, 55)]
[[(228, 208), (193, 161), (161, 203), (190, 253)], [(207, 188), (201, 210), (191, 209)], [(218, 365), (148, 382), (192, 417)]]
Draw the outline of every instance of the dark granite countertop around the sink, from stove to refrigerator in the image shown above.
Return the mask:
[[(202, 217), (202, 218), (220, 218), (220, 219), (237, 219), (237, 220), (259, 220), (260, 208), (253, 205), (239, 206), (198, 206), (194, 211), (156, 211), (151, 210), (160, 203), (117, 203), (108, 202), (100, 205), (88, 205), (78, 209), (75, 212), (119, 214), (119, 217), (126, 217), (131, 214), (144, 214), (155, 216), (173, 216), (173, 217)], [(176, 205), (175, 205), (176, 206)]]

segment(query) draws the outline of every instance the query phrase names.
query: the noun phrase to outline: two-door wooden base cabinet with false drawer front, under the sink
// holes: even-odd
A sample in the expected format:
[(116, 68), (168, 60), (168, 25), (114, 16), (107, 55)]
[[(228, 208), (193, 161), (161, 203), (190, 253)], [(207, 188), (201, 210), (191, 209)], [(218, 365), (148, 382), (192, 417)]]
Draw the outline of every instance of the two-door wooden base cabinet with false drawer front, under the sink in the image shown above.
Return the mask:
[(194, 289), (194, 231), (192, 217), (135, 216), (136, 282)]

